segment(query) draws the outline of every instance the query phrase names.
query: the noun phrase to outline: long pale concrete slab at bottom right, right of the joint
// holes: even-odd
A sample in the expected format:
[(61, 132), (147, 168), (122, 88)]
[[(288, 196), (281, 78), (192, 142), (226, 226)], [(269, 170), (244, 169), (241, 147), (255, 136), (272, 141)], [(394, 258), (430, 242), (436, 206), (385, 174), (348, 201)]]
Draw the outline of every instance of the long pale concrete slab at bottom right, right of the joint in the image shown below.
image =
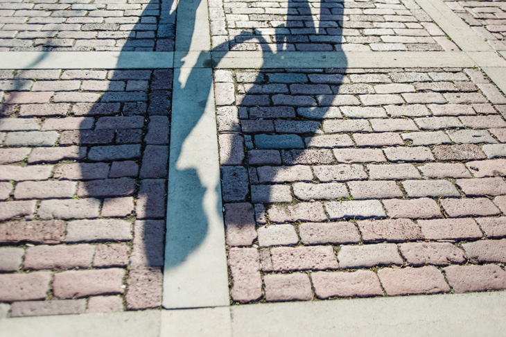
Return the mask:
[(505, 336), (506, 292), (232, 306), (234, 337)]

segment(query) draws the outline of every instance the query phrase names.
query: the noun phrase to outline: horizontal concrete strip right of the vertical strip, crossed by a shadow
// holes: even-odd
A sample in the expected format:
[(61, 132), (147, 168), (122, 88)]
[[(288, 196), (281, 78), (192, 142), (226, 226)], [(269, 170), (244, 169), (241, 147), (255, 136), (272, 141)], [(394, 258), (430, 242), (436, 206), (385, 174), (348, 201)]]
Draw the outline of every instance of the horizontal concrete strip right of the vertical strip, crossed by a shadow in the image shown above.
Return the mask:
[[(219, 62), (218, 62), (219, 61)], [(462, 51), (261, 51), (213, 52), (216, 68), (394, 68), (394, 67), (474, 67)]]

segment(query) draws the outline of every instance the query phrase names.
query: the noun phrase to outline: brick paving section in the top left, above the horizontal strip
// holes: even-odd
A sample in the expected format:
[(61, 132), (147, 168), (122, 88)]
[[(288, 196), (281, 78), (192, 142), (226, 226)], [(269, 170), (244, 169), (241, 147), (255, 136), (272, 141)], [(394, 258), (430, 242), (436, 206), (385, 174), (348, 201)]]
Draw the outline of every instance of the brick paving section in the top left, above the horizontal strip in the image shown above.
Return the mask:
[(171, 3), (2, 1), (0, 51), (173, 51)]

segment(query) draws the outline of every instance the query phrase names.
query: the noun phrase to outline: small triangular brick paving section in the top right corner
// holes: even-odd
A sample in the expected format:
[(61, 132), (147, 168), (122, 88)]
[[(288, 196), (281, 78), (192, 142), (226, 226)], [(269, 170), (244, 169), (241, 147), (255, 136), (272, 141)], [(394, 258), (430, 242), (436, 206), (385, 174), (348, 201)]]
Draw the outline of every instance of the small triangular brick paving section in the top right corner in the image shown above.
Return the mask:
[(497, 51), (506, 51), (505, 1), (445, 1), (483, 40)]

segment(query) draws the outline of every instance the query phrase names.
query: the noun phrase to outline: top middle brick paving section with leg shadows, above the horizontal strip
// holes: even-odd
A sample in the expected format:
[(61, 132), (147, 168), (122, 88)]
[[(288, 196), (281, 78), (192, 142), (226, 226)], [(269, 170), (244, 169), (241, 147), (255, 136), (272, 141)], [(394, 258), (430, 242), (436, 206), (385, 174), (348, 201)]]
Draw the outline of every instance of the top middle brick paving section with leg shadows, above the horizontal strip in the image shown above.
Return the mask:
[(209, 12), (221, 50), (459, 50), (412, 0), (224, 1)]

